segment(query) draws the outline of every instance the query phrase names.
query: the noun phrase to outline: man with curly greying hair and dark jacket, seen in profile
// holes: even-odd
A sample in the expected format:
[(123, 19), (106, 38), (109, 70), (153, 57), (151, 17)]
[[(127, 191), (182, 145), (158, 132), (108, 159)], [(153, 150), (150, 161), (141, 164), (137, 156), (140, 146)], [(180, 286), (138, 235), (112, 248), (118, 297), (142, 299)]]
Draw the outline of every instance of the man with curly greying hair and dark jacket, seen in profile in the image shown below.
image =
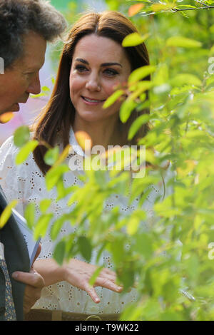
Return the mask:
[[(48, 1), (0, 0), (0, 58), (4, 61), (0, 115), (19, 111), (19, 103), (26, 103), (30, 93), (40, 93), (46, 42), (61, 36), (65, 28), (63, 16)], [(0, 190), (0, 215), (5, 207)], [(29, 269), (26, 242), (11, 216), (0, 230), (0, 320), (24, 319), (43, 287), (41, 275)]]

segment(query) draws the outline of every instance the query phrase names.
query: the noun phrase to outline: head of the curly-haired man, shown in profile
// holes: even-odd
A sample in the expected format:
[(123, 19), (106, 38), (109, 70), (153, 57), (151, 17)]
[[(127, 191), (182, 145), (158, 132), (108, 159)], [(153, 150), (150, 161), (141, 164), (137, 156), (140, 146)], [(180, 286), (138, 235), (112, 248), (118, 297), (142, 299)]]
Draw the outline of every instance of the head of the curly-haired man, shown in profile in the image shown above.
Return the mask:
[(39, 70), (44, 64), (46, 41), (66, 27), (63, 16), (47, 1), (0, 0), (0, 110), (18, 111), (29, 94), (40, 92)]

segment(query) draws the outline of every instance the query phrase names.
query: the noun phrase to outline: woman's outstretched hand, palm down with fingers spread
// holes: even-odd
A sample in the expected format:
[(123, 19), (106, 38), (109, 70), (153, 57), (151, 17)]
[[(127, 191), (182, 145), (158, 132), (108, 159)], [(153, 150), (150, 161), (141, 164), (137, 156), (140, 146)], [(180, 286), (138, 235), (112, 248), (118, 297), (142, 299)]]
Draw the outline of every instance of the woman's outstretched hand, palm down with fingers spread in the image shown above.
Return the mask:
[(78, 259), (71, 259), (71, 261), (63, 265), (63, 280), (79, 289), (85, 290), (91, 299), (98, 304), (101, 299), (96, 294), (94, 287), (105, 287), (118, 293), (123, 290), (123, 287), (116, 284), (116, 274), (109, 269), (102, 269), (98, 277), (96, 277), (95, 284), (91, 287), (89, 280), (97, 268), (96, 265), (88, 264)]

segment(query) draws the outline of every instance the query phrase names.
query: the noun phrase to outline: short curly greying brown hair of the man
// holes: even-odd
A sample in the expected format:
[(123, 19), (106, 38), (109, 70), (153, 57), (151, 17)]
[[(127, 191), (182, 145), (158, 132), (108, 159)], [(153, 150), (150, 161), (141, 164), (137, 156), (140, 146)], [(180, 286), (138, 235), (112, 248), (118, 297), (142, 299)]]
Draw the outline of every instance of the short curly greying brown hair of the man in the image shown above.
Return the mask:
[(45, 0), (0, 0), (0, 57), (9, 68), (24, 52), (23, 38), (29, 31), (46, 41), (61, 36), (66, 21)]

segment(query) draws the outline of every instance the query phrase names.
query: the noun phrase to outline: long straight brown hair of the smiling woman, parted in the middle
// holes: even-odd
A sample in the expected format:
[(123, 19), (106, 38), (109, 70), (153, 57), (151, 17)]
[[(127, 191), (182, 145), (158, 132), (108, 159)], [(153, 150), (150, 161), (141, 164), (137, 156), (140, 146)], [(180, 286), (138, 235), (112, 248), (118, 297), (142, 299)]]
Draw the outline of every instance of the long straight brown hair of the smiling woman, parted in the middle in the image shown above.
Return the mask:
[[(69, 143), (70, 128), (75, 115), (75, 109), (70, 98), (69, 75), (73, 52), (78, 41), (83, 38), (83, 36), (93, 33), (97, 36), (111, 38), (121, 45), (127, 35), (135, 32), (138, 31), (131, 21), (116, 11), (104, 11), (101, 14), (89, 13), (78, 19), (68, 34), (67, 41), (63, 47), (54, 90), (49, 103), (47, 103), (45, 108), (41, 111), (39, 123), (36, 125), (34, 139), (45, 141), (49, 143), (49, 145), (54, 146), (56, 133), (60, 131), (63, 146), (65, 147)], [(148, 51), (144, 43), (138, 46), (124, 48), (124, 50), (131, 63), (132, 71), (141, 66), (149, 65)], [(146, 80), (149, 79), (150, 77), (148, 76)], [(124, 133), (126, 133), (126, 139), (131, 123), (143, 113), (149, 113), (149, 111), (141, 110), (138, 113), (133, 111), (128, 122), (121, 125)], [(138, 132), (138, 138), (142, 138), (146, 135), (147, 131), (148, 125), (144, 125)], [(43, 145), (39, 145), (39, 147), (34, 150), (36, 164), (44, 174), (50, 168), (44, 163), (45, 153), (46, 148)]]

